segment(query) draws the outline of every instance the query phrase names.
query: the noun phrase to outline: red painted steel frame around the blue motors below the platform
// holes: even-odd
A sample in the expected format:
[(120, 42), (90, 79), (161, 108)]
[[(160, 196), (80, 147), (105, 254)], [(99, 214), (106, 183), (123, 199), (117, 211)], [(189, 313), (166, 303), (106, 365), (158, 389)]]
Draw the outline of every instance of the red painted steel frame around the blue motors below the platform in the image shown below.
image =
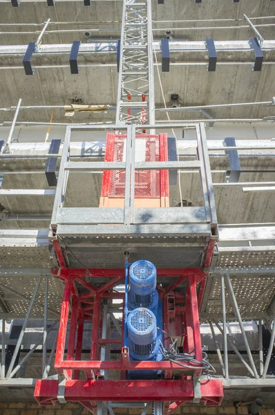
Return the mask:
[[(122, 350), (121, 360), (99, 360), (99, 346), (111, 343), (111, 340), (101, 339), (102, 312), (100, 304), (104, 298), (121, 298), (122, 293), (110, 291), (113, 286), (124, 280), (124, 269), (82, 269), (67, 268), (64, 266), (64, 257), (58, 243), (54, 243), (61, 268), (53, 269), (53, 275), (64, 281), (64, 295), (61, 305), (59, 335), (55, 357), (55, 369), (58, 374), (66, 378), (64, 397), (66, 400), (76, 400), (82, 403), (90, 412), (95, 411), (95, 401), (99, 400), (163, 400), (165, 399), (165, 412), (170, 414), (173, 408), (184, 402), (193, 400), (193, 379), (191, 374), (200, 375), (200, 369), (180, 367), (169, 361), (139, 361), (129, 360), (128, 349), (124, 347), (123, 338), (115, 339), (113, 343)], [(99, 288), (87, 283), (85, 277), (108, 278)], [(163, 302), (164, 331), (169, 333), (171, 324), (171, 311), (169, 312), (169, 299), (173, 298), (172, 306), (176, 307), (177, 315), (182, 313), (182, 319), (177, 320), (178, 333), (184, 333), (184, 351), (195, 351), (197, 360), (202, 360), (202, 344), (200, 340), (199, 302), (202, 298), (204, 282), (207, 275), (202, 268), (158, 268), (158, 277), (178, 277), (168, 286), (157, 288)], [(174, 291), (180, 284), (187, 281), (187, 294), (182, 295)], [(79, 294), (75, 282), (86, 288), (86, 293)], [(199, 294), (197, 293), (200, 288)], [(185, 304), (183, 302), (185, 301)], [(170, 315), (170, 317), (169, 317)], [(93, 322), (91, 331), (90, 360), (82, 360), (82, 340), (84, 320)], [(176, 320), (175, 320), (176, 321)], [(69, 324), (70, 322), (70, 324)], [(69, 330), (68, 330), (69, 326)], [(68, 345), (66, 351), (66, 333), (68, 330)], [(169, 345), (168, 336), (164, 335), (164, 344)], [(66, 359), (65, 359), (66, 353)], [(104, 380), (100, 370), (120, 371), (121, 380)], [(164, 371), (164, 380), (125, 380), (127, 370), (160, 369)], [(179, 380), (172, 380), (173, 371), (180, 372)], [(86, 380), (79, 380), (80, 373), (85, 374)], [(201, 385), (202, 401), (206, 405), (220, 405), (223, 398), (222, 382), (220, 380), (207, 380)], [(35, 398), (41, 405), (53, 405), (57, 401), (58, 381), (37, 380)], [(164, 398), (165, 397), (165, 398)], [(173, 402), (174, 401), (174, 402)], [(173, 402), (173, 403), (171, 403)], [(171, 405), (170, 405), (171, 403)]]

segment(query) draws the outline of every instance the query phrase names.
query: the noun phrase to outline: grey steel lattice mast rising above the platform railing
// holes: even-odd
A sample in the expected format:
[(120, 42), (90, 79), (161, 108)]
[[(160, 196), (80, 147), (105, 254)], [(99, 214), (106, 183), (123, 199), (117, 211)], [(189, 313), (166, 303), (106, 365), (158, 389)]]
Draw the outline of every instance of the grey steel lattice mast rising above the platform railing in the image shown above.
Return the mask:
[(151, 0), (124, 0), (117, 89), (117, 124), (154, 124)]

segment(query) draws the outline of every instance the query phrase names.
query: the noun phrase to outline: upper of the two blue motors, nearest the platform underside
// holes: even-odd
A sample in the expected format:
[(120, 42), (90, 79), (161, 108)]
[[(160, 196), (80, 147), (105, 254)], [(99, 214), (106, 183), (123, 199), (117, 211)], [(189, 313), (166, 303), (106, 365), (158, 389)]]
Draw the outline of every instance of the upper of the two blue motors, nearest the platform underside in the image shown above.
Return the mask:
[(137, 307), (158, 308), (157, 270), (150, 261), (135, 261), (129, 270), (129, 309)]

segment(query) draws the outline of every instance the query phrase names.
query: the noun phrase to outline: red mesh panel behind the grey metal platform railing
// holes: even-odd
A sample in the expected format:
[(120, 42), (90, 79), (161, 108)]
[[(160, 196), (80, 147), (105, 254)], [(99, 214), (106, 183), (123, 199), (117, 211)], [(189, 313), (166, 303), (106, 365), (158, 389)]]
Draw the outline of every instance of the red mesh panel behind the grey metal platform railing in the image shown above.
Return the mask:
[[(145, 140), (145, 161), (167, 160), (167, 135), (137, 135), (137, 140)], [(138, 143), (137, 143), (138, 144)], [(108, 134), (106, 142), (106, 161), (123, 161), (126, 135)], [(168, 196), (168, 190), (164, 190), (164, 176), (168, 172), (160, 170), (140, 170), (135, 172), (135, 197), (136, 198), (160, 198)], [(102, 196), (110, 198), (124, 197), (125, 171), (113, 170), (104, 172)]]

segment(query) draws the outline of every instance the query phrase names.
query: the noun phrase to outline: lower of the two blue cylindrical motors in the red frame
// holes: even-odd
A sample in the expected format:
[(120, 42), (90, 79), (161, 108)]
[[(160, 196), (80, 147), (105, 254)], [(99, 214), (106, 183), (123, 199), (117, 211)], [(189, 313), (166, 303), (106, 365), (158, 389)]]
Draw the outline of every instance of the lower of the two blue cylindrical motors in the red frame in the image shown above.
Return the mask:
[(135, 308), (127, 318), (129, 354), (133, 360), (155, 358), (160, 347), (155, 315), (148, 308)]

